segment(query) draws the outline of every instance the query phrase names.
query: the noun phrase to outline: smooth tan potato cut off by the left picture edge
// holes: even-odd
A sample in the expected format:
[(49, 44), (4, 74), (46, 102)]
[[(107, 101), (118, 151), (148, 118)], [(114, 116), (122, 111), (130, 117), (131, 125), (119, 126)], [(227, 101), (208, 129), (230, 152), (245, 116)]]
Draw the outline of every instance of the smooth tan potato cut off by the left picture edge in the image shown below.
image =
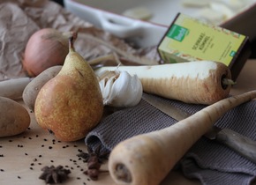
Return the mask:
[(11, 137), (24, 132), (30, 125), (30, 115), (15, 100), (0, 97), (0, 137)]

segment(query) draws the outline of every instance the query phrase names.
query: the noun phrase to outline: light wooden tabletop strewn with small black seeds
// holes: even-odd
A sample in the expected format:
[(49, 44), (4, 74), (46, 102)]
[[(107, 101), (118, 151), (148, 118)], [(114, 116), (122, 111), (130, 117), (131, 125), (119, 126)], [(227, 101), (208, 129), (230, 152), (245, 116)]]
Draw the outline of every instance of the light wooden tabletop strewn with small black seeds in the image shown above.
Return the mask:
[[(248, 60), (237, 78), (231, 94), (244, 93), (256, 89), (256, 60)], [(19, 101), (21, 104), (22, 100)], [(79, 151), (87, 152), (83, 140), (65, 143), (58, 142), (48, 132), (41, 130), (30, 113), (32, 122), (29, 130), (15, 137), (0, 138), (0, 184), (43, 185), (39, 179), (41, 168), (62, 165), (71, 170), (69, 179), (63, 184), (72, 185), (115, 185), (108, 173), (100, 175), (98, 181), (89, 180), (83, 174), (87, 163), (77, 157)], [(107, 164), (102, 166), (107, 169)], [(162, 181), (162, 185), (200, 184), (199, 181), (185, 179), (182, 174), (172, 171)]]

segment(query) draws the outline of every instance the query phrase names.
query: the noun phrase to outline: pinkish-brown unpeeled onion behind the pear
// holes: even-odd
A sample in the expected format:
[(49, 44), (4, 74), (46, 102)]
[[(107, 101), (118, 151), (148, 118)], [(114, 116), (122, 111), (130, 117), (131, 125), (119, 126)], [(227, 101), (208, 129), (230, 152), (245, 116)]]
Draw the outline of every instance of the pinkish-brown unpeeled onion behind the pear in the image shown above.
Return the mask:
[(26, 43), (22, 61), (27, 75), (36, 77), (49, 67), (63, 65), (69, 52), (70, 34), (61, 33), (53, 28), (43, 28), (35, 32)]

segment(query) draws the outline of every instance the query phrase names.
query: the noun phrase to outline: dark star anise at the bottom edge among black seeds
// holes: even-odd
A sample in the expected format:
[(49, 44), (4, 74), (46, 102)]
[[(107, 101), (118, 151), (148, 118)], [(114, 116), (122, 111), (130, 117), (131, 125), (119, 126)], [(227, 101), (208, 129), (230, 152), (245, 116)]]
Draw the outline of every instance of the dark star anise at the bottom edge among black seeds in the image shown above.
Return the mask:
[(63, 166), (50, 166), (41, 168), (43, 173), (39, 176), (39, 179), (44, 180), (46, 183), (62, 183), (68, 178), (68, 174), (71, 173), (69, 169), (64, 169)]

